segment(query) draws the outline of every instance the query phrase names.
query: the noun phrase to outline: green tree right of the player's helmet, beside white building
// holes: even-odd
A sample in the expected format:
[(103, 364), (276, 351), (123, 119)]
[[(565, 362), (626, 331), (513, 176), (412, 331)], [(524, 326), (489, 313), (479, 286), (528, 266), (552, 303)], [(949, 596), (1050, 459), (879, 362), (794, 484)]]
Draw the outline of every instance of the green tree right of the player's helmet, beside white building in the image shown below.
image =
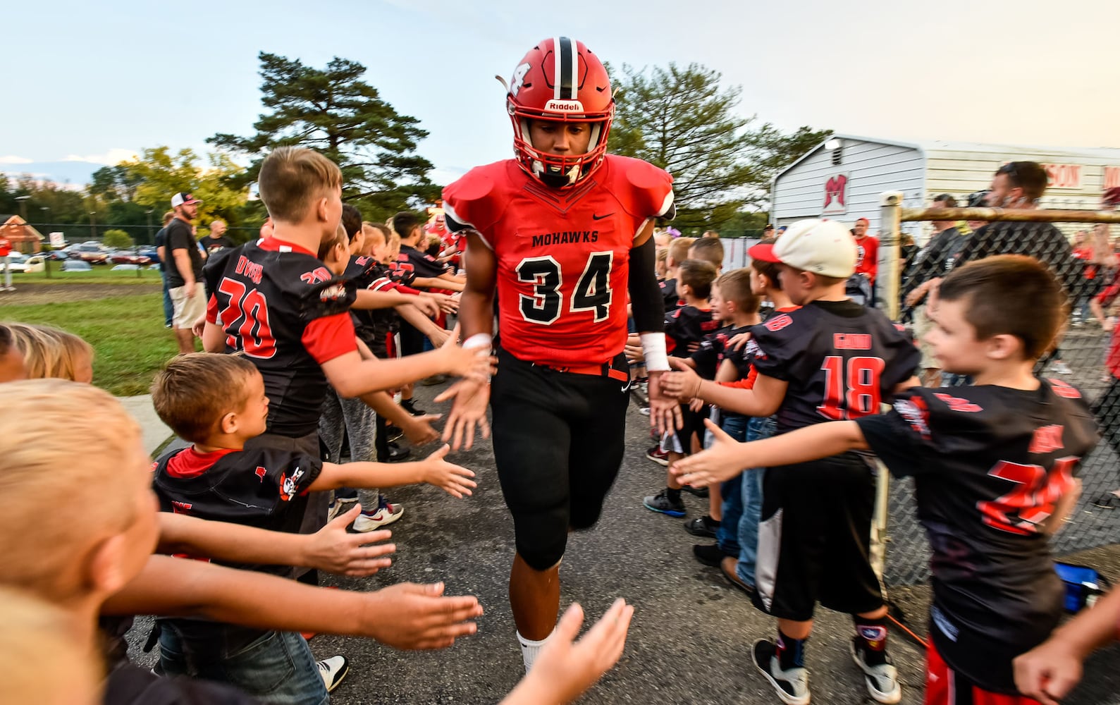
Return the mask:
[[(645, 159), (673, 175), (681, 230), (718, 225), (763, 205), (769, 180), (800, 156), (805, 141), (829, 132), (802, 128), (783, 136), (769, 123), (735, 112), (738, 86), (721, 87), (719, 72), (700, 64), (636, 71), (623, 65), (612, 151)], [(808, 148), (806, 148), (808, 150)], [(802, 150), (804, 151), (804, 150)]]

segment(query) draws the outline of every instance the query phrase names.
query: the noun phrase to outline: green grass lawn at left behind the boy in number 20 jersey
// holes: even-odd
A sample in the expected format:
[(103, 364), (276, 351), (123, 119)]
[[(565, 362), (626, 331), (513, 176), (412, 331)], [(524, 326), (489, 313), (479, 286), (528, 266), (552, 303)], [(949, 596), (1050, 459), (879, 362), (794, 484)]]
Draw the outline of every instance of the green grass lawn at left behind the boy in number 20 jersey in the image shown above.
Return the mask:
[[(112, 273), (136, 277), (134, 271)], [(159, 277), (159, 272), (152, 273)], [(41, 323), (81, 335), (97, 351), (93, 383), (118, 397), (129, 397), (148, 393), (156, 371), (178, 352), (171, 332), (164, 327), (162, 300), (159, 293), (4, 306), (0, 321)]]

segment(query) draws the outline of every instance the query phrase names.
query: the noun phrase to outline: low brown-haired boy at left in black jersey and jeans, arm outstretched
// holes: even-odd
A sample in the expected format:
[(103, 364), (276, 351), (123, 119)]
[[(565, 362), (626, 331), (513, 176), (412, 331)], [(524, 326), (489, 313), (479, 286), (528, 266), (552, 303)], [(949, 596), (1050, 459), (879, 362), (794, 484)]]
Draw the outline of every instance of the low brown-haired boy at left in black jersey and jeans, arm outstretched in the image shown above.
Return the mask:
[[(461, 498), (475, 486), (474, 473), (444, 461), (447, 446), (419, 463), (395, 465), (324, 463), (276, 445), (246, 448), (265, 430), (269, 399), (261, 373), (242, 356), (176, 358), (152, 383), (152, 402), (164, 423), (194, 444), (155, 464), (162, 511), (297, 532), (309, 492), (427, 482)], [(287, 574), (286, 566), (233, 567)], [(234, 683), (270, 703), (325, 702), (345, 672), (345, 660), (328, 664), (334, 669), (317, 667), (298, 633), (193, 619), (161, 618), (157, 625), (165, 672)]]

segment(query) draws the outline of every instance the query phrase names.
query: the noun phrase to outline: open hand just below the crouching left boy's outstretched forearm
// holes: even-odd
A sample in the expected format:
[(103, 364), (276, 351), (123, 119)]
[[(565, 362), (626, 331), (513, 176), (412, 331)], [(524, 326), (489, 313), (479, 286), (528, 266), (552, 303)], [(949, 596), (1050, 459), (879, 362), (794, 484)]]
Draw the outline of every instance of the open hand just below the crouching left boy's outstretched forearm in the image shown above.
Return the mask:
[(345, 514), (335, 517), (327, 526), (307, 535), (304, 559), (299, 565), (352, 577), (365, 577), (381, 568), (388, 568), (392, 564), (389, 554), (396, 551), (396, 545), (368, 544), (388, 541), (393, 532), (382, 529), (368, 534), (348, 534), (346, 529), (360, 513), (362, 505), (355, 503)]

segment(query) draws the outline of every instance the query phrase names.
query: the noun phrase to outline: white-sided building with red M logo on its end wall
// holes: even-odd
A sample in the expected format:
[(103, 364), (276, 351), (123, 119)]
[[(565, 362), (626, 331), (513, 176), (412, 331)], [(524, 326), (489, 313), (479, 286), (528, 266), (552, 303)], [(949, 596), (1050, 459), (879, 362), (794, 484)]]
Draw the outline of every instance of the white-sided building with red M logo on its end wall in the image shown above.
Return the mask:
[[(924, 207), (948, 193), (965, 205), (965, 197), (991, 184), (992, 174), (1008, 161), (1038, 161), (1051, 185), (1042, 207), (1100, 206), (1105, 188), (1120, 186), (1120, 149), (1073, 149), (965, 142), (898, 142), (870, 137), (833, 134), (791, 164), (771, 188), (771, 220), (788, 225), (804, 217), (847, 223), (858, 217), (879, 228), (879, 197), (885, 191), (905, 196), (905, 207)], [(903, 231), (925, 240), (930, 228), (903, 223)]]

